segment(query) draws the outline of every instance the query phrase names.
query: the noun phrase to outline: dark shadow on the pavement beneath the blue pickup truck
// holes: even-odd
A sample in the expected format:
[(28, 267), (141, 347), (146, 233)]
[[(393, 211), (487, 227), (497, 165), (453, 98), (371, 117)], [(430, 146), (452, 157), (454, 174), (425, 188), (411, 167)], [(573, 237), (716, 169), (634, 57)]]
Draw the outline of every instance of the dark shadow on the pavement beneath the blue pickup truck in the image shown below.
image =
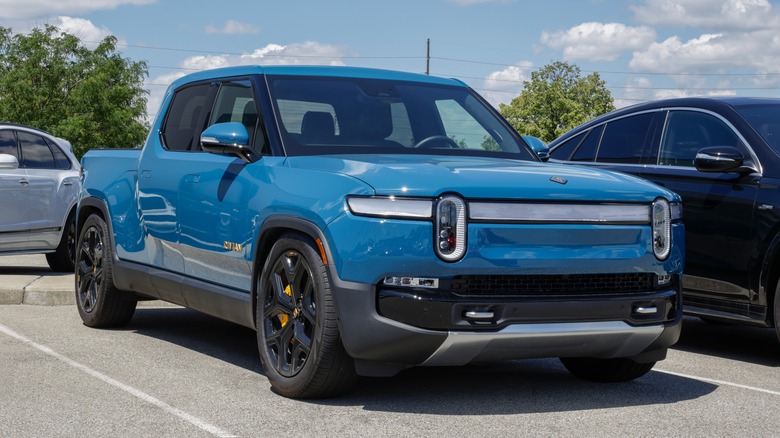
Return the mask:
[[(134, 331), (262, 375), (255, 332), (185, 308), (139, 308)], [(673, 404), (706, 396), (716, 385), (660, 372), (627, 383), (571, 376), (557, 359), (465, 367), (412, 368), (390, 378), (361, 378), (350, 393), (305, 403), (369, 411), (504, 415)], [(304, 402), (302, 402), (304, 403)]]

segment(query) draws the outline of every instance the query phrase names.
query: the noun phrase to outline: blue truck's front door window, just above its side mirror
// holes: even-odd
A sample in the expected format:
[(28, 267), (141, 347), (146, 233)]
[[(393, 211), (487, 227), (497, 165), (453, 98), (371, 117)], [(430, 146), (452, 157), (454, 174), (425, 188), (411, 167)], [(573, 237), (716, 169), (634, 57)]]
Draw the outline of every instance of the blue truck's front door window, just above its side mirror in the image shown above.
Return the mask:
[(259, 117), (249, 80), (223, 82), (220, 85), (209, 126), (225, 122), (243, 124), (249, 133), (249, 144), (257, 151), (263, 150), (265, 136), (258, 130)]

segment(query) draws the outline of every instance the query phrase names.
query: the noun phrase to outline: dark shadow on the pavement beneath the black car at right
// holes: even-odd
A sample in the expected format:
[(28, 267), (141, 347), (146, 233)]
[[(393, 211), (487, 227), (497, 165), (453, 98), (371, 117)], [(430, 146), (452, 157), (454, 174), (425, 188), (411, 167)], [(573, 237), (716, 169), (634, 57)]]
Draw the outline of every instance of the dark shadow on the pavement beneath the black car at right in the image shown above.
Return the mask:
[(756, 365), (780, 367), (780, 342), (775, 330), (686, 316), (675, 350), (705, 354)]

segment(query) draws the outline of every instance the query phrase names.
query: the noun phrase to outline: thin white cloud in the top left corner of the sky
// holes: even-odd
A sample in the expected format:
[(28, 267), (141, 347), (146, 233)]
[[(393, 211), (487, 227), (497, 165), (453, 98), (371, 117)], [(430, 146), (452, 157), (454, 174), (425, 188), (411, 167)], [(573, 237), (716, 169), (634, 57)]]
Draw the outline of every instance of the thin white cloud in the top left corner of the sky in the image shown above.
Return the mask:
[(121, 5), (146, 5), (157, 0), (0, 0), (0, 19), (22, 20), (58, 14), (79, 14)]

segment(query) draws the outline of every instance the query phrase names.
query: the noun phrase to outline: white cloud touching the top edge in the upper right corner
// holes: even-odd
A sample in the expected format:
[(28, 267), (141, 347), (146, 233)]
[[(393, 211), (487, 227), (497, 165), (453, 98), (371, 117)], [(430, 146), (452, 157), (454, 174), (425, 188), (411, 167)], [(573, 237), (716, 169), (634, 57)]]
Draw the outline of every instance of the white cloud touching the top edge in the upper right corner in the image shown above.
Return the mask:
[(776, 29), (780, 14), (768, 0), (646, 0), (631, 9), (639, 22), (718, 31)]

